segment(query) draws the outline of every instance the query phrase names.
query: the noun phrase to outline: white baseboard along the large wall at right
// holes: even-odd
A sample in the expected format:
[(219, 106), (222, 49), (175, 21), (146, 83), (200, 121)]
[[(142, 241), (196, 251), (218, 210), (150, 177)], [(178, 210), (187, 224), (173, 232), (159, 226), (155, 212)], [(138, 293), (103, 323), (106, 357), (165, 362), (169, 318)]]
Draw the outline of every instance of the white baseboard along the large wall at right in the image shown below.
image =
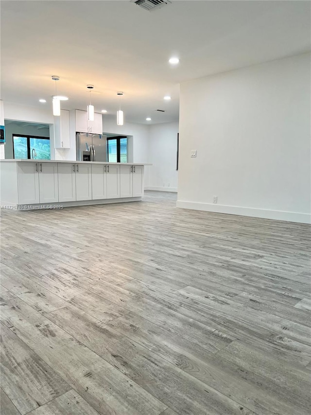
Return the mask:
[(242, 206), (218, 205), (212, 203), (188, 202), (177, 200), (176, 207), (183, 209), (203, 210), (206, 212), (226, 213), (265, 219), (286, 220), (289, 222), (311, 223), (311, 215), (299, 212), (285, 212), (278, 210), (246, 208)]

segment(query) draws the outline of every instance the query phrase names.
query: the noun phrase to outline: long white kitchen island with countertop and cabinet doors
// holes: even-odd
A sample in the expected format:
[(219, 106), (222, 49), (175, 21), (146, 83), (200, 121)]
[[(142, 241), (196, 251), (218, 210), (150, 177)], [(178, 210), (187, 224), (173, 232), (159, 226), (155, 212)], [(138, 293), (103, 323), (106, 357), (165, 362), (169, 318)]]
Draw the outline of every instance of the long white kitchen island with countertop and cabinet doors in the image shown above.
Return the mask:
[(1, 209), (57, 209), (141, 200), (145, 165), (0, 160)]

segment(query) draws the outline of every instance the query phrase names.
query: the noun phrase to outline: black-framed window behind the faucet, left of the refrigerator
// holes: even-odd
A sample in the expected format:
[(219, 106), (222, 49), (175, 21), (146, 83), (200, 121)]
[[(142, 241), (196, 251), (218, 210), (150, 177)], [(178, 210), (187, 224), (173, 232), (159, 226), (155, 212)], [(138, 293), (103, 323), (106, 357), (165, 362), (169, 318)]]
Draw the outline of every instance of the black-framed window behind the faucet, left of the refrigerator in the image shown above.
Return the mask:
[(13, 134), (14, 159), (51, 160), (50, 137)]

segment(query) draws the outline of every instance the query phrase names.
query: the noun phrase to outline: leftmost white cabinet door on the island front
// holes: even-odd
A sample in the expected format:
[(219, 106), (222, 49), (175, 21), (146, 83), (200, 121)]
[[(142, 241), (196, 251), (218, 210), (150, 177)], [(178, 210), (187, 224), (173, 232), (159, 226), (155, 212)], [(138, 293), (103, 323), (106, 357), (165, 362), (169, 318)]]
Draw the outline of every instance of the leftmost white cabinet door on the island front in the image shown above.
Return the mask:
[(18, 204), (40, 203), (37, 162), (17, 163)]

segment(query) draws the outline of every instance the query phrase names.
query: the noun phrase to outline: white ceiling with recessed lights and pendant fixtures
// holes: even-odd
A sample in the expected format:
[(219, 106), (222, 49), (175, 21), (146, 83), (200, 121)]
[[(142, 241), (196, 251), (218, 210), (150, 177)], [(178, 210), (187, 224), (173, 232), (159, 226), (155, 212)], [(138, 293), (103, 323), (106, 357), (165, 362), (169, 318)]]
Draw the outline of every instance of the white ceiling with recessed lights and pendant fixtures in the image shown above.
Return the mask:
[(114, 114), (122, 90), (127, 121), (175, 121), (179, 82), (308, 51), (309, 1), (1, 1), (1, 99), (51, 111), (56, 74), (62, 108), (85, 109), (94, 84), (98, 112)]

